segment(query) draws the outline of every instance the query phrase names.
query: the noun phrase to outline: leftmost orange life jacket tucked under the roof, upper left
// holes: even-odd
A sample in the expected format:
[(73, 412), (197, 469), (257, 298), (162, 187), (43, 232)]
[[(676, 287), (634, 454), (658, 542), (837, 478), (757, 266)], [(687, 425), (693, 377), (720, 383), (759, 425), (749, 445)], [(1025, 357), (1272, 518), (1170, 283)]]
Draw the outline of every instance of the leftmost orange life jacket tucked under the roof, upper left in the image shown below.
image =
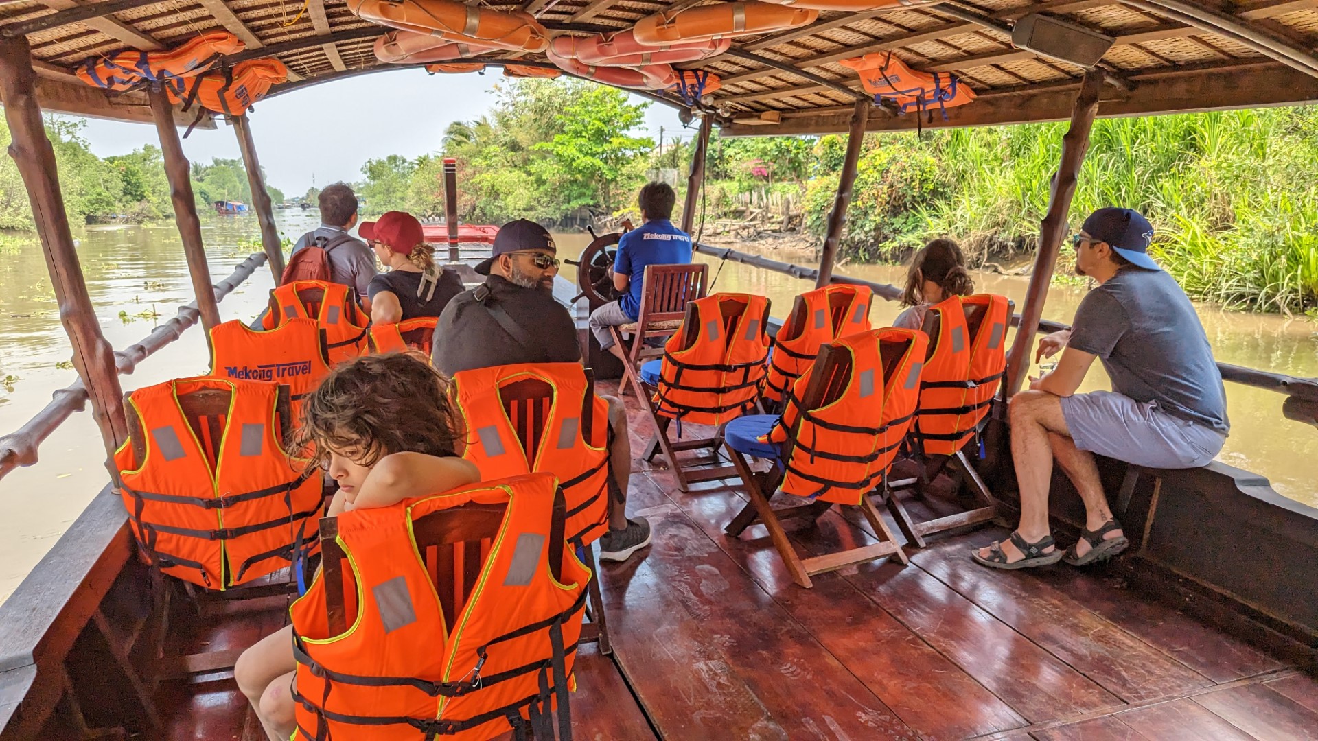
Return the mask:
[(203, 33), (167, 51), (120, 51), (111, 57), (91, 57), (74, 69), (78, 79), (92, 87), (124, 91), (144, 82), (181, 80), (215, 66), (225, 54), (244, 49), (239, 37), (227, 30)]

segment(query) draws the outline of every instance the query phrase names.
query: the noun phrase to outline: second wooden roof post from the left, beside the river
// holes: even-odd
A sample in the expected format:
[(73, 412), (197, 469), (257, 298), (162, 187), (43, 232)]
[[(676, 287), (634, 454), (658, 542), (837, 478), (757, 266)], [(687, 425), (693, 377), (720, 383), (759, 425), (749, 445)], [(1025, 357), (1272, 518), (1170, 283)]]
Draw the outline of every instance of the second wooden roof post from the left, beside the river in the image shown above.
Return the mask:
[(161, 140), (161, 153), (165, 156), (165, 177), (169, 179), (169, 198), (174, 206), (174, 223), (178, 236), (183, 240), (183, 257), (187, 258), (187, 274), (192, 278), (192, 293), (196, 295), (196, 309), (202, 312), (202, 328), (206, 330), (206, 344), (211, 344), (211, 327), (220, 323), (220, 307), (215, 302), (215, 286), (211, 283), (211, 266), (206, 264), (206, 245), (202, 243), (202, 220), (196, 216), (196, 198), (192, 195), (191, 170), (183, 156), (183, 142), (178, 138), (174, 124), (174, 107), (163, 90), (148, 90), (156, 119), (156, 134)]

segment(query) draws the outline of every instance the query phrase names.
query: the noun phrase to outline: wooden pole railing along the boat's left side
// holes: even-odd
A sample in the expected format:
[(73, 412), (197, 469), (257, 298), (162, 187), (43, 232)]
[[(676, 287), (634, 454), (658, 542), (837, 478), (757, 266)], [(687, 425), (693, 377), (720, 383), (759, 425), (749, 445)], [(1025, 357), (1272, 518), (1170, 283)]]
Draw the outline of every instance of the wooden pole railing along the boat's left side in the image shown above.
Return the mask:
[[(265, 265), (265, 262), (266, 256), (262, 252), (248, 256), (246, 260), (233, 269), (233, 273), (228, 278), (215, 283), (215, 301), (224, 301), (224, 297), (229, 295), (233, 289), (250, 278), (252, 273), (261, 265)], [(195, 301), (179, 306), (178, 314), (173, 319), (157, 326), (141, 341), (116, 351), (115, 368), (119, 370), (119, 374), (132, 373), (142, 360), (146, 360), (162, 347), (179, 339), (188, 327), (200, 320), (200, 316), (202, 314)], [(29, 419), (26, 425), (8, 435), (0, 436), (0, 479), (14, 468), (37, 463), (37, 448), (41, 443), (65, 419), (69, 419), (72, 413), (82, 411), (87, 405), (87, 386), (79, 378), (69, 386), (54, 392), (50, 403)]]

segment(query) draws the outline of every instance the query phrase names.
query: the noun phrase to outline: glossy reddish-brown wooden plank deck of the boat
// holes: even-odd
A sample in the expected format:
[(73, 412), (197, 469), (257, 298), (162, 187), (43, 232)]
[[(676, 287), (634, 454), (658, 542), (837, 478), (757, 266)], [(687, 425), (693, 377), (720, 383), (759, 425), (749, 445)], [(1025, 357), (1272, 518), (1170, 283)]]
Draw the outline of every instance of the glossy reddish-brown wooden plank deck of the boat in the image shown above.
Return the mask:
[[(633, 413), (635, 451), (648, 422)], [(1064, 564), (995, 572), (966, 551), (996, 526), (795, 585), (762, 526), (722, 533), (742, 506), (725, 483), (677, 490), (638, 463), (629, 510), (654, 545), (604, 564), (613, 659), (577, 655), (577, 738), (1318, 738), (1318, 680), (1286, 661)], [(873, 541), (836, 510), (789, 530), (811, 554)], [(206, 649), (246, 645), (278, 610), (232, 616)], [(170, 741), (254, 741), (224, 675), (162, 684)], [(195, 679), (206, 679), (199, 675)]]

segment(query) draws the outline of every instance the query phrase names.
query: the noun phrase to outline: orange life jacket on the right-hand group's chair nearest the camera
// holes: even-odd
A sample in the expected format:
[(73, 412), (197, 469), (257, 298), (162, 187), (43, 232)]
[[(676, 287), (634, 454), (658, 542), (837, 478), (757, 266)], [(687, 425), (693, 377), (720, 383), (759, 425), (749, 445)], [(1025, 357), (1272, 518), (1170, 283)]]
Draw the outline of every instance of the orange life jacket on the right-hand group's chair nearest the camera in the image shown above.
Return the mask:
[(924, 332), (892, 327), (829, 343), (849, 356), (846, 385), (824, 406), (801, 409), (800, 398), (818, 369), (808, 368), (767, 435), (766, 442), (792, 442), (784, 492), (861, 504), (861, 494), (878, 485), (911, 427), (928, 343)]

